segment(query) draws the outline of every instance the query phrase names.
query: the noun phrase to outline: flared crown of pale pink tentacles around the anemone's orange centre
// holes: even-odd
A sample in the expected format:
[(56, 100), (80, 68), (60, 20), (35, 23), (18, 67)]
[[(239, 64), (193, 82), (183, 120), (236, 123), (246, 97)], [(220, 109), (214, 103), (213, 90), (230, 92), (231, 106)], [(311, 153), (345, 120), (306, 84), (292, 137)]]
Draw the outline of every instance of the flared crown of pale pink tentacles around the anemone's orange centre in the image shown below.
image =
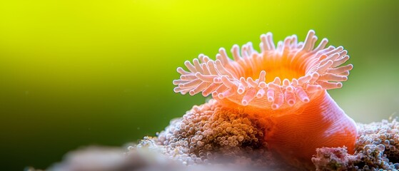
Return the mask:
[(188, 71), (177, 68), (181, 76), (173, 81), (173, 90), (190, 95), (202, 92), (258, 107), (264, 104), (254, 100), (265, 99), (271, 108), (278, 109), (283, 104), (308, 103), (316, 91), (342, 87), (353, 68), (351, 64), (342, 66), (349, 59), (348, 51), (342, 46), (326, 47), (326, 38), (315, 46), (318, 38), (312, 30), (305, 41), (297, 39), (296, 35), (288, 36), (275, 46), (272, 33), (266, 33), (261, 35), (260, 53), (249, 42), (241, 51), (238, 45), (231, 48), (233, 59), (224, 48), (219, 49), (216, 60), (200, 54), (192, 63), (184, 62)]

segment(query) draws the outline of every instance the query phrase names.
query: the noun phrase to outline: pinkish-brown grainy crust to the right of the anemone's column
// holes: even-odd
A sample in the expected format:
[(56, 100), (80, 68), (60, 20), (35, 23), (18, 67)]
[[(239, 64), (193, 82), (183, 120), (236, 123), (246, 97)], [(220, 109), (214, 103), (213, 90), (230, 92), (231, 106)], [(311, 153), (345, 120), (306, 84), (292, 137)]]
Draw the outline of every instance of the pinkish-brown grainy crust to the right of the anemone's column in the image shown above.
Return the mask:
[(355, 154), (343, 147), (320, 148), (312, 158), (317, 170), (399, 170), (399, 123), (359, 124)]

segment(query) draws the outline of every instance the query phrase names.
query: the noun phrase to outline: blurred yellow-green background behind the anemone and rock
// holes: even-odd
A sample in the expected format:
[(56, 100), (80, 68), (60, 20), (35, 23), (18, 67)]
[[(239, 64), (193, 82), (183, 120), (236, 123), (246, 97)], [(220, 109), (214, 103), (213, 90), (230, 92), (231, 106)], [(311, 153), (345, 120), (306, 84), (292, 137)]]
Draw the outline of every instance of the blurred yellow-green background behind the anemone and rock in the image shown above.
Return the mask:
[(0, 1), (0, 170), (45, 168), (84, 145), (155, 135), (205, 98), (176, 67), (272, 31), (344, 46), (330, 94), (358, 122), (399, 112), (399, 1)]

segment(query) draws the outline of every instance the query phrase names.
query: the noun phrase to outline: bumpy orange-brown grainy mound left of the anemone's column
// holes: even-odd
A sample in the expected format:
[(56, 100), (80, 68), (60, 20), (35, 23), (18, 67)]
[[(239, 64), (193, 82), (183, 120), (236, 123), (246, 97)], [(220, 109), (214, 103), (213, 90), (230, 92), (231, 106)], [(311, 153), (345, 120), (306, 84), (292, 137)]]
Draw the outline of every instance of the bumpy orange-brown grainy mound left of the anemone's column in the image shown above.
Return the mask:
[(263, 164), (270, 158), (264, 129), (256, 118), (223, 109), (216, 100), (211, 100), (194, 106), (183, 118), (172, 120), (155, 141), (166, 145), (171, 156), (188, 165), (228, 160), (254, 160), (251, 164), (259, 160)]

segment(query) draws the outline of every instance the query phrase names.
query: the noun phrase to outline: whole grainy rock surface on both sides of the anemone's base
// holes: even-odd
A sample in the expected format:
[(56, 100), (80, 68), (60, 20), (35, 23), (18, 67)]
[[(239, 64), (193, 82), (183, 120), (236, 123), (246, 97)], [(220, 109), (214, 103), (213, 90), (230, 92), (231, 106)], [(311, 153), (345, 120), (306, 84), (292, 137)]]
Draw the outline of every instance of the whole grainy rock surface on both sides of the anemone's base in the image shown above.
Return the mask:
[[(54, 171), (303, 170), (278, 162), (264, 142), (262, 120), (223, 110), (211, 100), (172, 120), (156, 137), (123, 148), (87, 147), (69, 152)], [(312, 161), (317, 170), (398, 170), (399, 123), (358, 124), (355, 154), (323, 147)], [(34, 169), (29, 169), (33, 171)]]

